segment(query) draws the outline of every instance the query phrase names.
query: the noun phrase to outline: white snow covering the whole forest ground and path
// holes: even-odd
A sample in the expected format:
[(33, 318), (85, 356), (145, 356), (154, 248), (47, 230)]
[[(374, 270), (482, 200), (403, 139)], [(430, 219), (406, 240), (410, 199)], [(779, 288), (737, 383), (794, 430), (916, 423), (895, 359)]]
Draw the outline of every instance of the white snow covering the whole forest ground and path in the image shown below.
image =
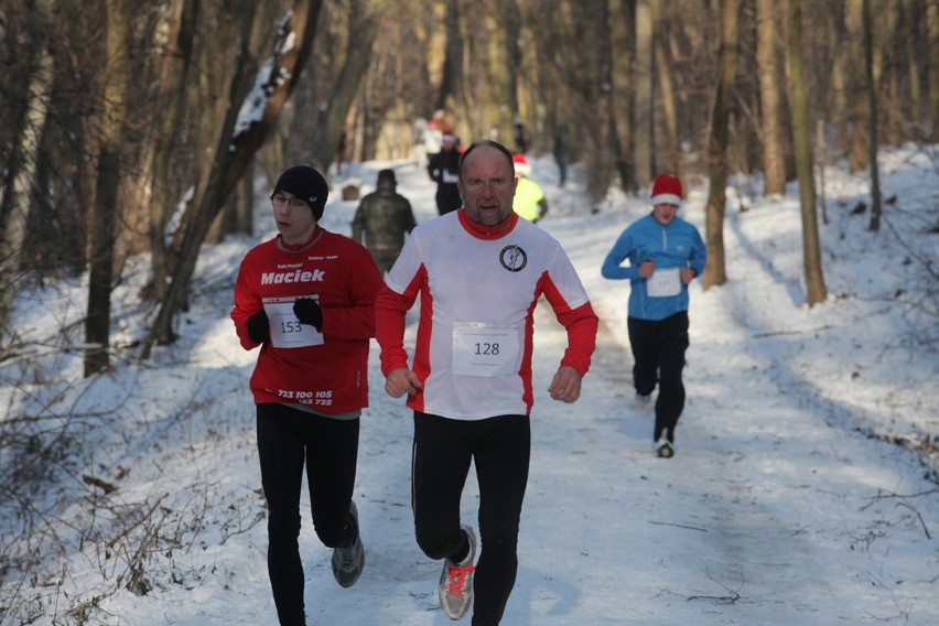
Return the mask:
[[(611, 194), (593, 214), (580, 185), (557, 187), (550, 156), (531, 161), (551, 203), (540, 225), (564, 244), (602, 327), (581, 400), (555, 403), (544, 389), (564, 335), (547, 304), (538, 310), (541, 392), (504, 624), (939, 624), (939, 488), (927, 450), (939, 431), (935, 153), (882, 156), (884, 197), (896, 201), (879, 234), (853, 214), (864, 177), (827, 172), (830, 298), (811, 309), (796, 190), (742, 197), (745, 212), (731, 203), (728, 282), (692, 287), (672, 460), (652, 455), (651, 411), (633, 403), (628, 283), (600, 276), (618, 233), (648, 206)], [(334, 197), (348, 180), (370, 191), (382, 166), (398, 171), (419, 222), (435, 215), (433, 186), (406, 162), (350, 166), (334, 176)], [(693, 188), (682, 209), (702, 230), (704, 199)], [(324, 226), (348, 233), (356, 204), (331, 202)], [(82, 282), (22, 299), (22, 335), (44, 346), (0, 371), (0, 406), (8, 425), (40, 419), (15, 427), (22, 445), (0, 449), (3, 479), (19, 485), (0, 492), (0, 624), (276, 623), (247, 389), (256, 355), (228, 319), (241, 256), (273, 234), (269, 212), (258, 214), (258, 237), (205, 248), (181, 339), (150, 361), (128, 350), (112, 374), (82, 380), (79, 353), (50, 339), (80, 320)], [(116, 295), (128, 345), (140, 334), (143, 272), (130, 267)], [(307, 623), (442, 626), (451, 622), (436, 604), (440, 563), (413, 540), (411, 414), (385, 396), (377, 357), (373, 345), (356, 488), (366, 570), (341, 590), (304, 515)], [(11, 482), (15, 467), (41, 467), (53, 482)], [(466, 521), (476, 497), (471, 477)], [(28, 549), (36, 563), (24, 572)]]

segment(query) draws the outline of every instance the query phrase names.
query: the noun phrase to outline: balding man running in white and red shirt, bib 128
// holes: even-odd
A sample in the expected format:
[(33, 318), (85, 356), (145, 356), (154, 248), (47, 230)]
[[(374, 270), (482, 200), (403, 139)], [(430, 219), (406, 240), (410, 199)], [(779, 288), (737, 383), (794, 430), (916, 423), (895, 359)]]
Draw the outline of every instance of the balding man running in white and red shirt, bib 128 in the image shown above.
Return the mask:
[[(414, 410), (412, 497), (418, 544), (444, 559), (440, 601), (458, 619), (475, 593), (474, 626), (499, 623), (518, 569), (518, 525), (530, 457), (532, 314), (543, 295), (568, 331), (548, 388), (574, 402), (597, 317), (561, 245), (512, 212), (512, 154), (493, 141), (460, 164), (463, 208), (418, 226), (376, 302), (385, 389)], [(404, 314), (420, 295), (413, 363)], [(479, 485), (482, 552), (461, 526), (471, 462)], [(475, 572), (475, 582), (473, 580)]]

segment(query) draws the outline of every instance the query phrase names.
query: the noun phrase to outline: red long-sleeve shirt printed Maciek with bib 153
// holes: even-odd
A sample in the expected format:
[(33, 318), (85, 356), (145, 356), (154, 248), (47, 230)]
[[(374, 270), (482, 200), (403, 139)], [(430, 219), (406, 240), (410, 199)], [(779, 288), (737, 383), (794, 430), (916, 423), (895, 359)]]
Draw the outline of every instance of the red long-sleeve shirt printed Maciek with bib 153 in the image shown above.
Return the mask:
[[(261, 346), (250, 382), (255, 402), (325, 414), (367, 407), (368, 343), (380, 289), (368, 250), (320, 227), (299, 249), (277, 236), (248, 251), (238, 270), (231, 319), (245, 349)], [(320, 330), (300, 324), (293, 314), (299, 298), (319, 301)], [(262, 307), (270, 335), (257, 344), (248, 336), (248, 317)]]

